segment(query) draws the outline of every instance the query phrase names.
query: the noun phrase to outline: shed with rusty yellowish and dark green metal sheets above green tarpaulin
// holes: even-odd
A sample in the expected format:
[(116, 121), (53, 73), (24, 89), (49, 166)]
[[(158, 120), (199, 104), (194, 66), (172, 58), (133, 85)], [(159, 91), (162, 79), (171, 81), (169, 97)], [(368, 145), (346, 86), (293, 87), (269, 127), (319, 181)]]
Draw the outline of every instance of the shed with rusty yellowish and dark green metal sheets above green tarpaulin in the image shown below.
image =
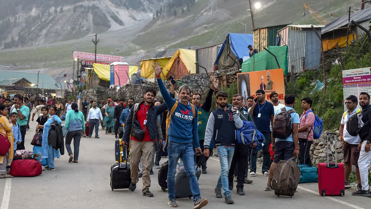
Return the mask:
[(260, 52), (264, 50), (264, 47), (276, 46), (277, 31), (287, 25), (288, 24), (267, 26), (253, 30), (254, 48)]

